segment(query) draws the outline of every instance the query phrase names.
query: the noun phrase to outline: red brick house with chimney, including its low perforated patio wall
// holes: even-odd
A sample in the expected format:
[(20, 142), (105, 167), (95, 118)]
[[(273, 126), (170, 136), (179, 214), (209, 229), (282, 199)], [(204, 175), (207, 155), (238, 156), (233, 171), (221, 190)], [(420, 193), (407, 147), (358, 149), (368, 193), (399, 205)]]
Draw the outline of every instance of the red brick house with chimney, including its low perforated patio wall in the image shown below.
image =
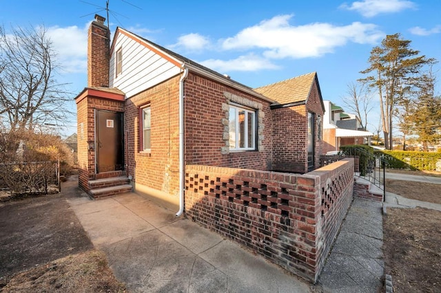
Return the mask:
[(252, 89), (123, 28), (110, 44), (96, 15), (76, 105), (79, 186), (92, 197), (133, 190), (316, 281), (353, 161), (314, 171), (315, 72)]

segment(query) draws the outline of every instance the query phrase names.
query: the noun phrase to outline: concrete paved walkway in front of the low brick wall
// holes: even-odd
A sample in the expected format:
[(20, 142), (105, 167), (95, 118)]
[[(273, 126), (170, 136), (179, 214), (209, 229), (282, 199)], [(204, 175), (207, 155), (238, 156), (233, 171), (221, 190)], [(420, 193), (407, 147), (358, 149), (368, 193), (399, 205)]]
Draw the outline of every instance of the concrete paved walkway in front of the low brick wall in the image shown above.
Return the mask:
[(68, 202), (130, 292), (310, 292), (306, 281), (135, 193)]

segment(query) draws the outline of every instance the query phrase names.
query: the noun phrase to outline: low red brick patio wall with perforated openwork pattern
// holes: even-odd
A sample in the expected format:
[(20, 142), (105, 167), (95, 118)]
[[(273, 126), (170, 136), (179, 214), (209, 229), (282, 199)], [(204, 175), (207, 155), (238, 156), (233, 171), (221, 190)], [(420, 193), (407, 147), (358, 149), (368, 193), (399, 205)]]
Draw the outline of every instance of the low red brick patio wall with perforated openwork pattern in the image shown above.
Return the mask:
[(353, 193), (353, 160), (305, 175), (187, 165), (185, 212), (315, 282)]

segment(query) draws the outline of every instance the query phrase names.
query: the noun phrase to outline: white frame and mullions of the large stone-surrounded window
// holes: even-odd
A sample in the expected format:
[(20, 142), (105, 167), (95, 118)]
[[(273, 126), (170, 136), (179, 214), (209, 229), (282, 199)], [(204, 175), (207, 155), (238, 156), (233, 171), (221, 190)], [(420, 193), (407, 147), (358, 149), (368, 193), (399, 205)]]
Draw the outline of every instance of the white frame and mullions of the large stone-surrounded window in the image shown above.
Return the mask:
[[(232, 146), (232, 145), (230, 145), (229, 146), (229, 151), (231, 151), (231, 152), (237, 152), (237, 151), (256, 151), (256, 116), (257, 116), (257, 111), (256, 111), (256, 109), (252, 109), (252, 108), (249, 108), (249, 107), (244, 107), (244, 106), (242, 106), (242, 105), (237, 105), (237, 104), (235, 104), (235, 103), (231, 103), (230, 105), (229, 105), (229, 107), (230, 108), (234, 108), (234, 109), (236, 109), (236, 119), (235, 119), (235, 127), (234, 127), (234, 129), (235, 129), (235, 131), (234, 131), (234, 135), (235, 135), (235, 143), (236, 143), (236, 145), (234, 145), (234, 146)], [(240, 147), (238, 144), (239, 144), (239, 136), (240, 136), (240, 129), (239, 129), (239, 111), (240, 110), (242, 110), (242, 111), (245, 111), (245, 120), (244, 120), (244, 122), (245, 122), (245, 126), (244, 126), (244, 136), (245, 136), (245, 147)], [(253, 125), (252, 125), (252, 133), (254, 133), (253, 134), (253, 136), (252, 136), (252, 146), (249, 146), (249, 141), (248, 141), (248, 115), (249, 115), (249, 113), (253, 113), (254, 114), (254, 123), (253, 123)]]

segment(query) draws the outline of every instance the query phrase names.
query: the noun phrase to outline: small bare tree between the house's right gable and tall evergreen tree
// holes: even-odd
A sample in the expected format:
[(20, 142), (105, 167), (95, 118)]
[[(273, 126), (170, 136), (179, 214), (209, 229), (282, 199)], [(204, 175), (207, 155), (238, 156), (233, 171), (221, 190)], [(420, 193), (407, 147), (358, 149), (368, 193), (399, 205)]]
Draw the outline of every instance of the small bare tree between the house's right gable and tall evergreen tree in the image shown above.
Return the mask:
[(367, 114), (373, 109), (371, 106), (372, 96), (363, 83), (349, 83), (346, 96), (342, 98), (345, 108), (356, 113), (360, 118), (362, 129), (367, 127)]

